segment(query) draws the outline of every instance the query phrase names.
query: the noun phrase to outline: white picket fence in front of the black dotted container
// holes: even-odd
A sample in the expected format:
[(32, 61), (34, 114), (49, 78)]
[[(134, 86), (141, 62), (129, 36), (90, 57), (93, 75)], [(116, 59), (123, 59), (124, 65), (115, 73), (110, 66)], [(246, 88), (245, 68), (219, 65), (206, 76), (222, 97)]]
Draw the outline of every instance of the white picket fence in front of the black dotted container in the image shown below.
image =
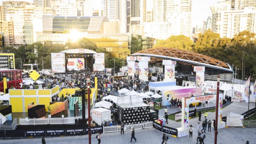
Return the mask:
[[(141, 124), (126, 124), (124, 125), (124, 131), (128, 130), (138, 130), (143, 128), (153, 128), (153, 122), (143, 122)], [(121, 131), (121, 125), (115, 125), (115, 126), (103, 126), (103, 133), (106, 132), (120, 132)]]

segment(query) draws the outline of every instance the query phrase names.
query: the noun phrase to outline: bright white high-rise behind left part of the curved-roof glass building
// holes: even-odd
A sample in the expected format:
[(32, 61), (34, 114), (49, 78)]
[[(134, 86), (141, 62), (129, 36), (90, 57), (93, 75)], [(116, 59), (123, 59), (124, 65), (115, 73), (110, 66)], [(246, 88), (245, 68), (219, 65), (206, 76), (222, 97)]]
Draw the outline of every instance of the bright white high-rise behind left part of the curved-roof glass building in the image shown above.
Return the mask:
[(76, 6), (71, 0), (51, 0), (50, 5), (58, 16), (77, 16)]

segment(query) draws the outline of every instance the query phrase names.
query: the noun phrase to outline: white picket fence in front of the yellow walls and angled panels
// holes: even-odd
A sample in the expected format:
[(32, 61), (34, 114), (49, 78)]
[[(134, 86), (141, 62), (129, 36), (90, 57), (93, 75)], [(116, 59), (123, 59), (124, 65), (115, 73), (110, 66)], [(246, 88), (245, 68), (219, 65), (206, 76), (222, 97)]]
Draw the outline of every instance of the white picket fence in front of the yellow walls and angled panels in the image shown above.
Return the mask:
[(64, 117), (64, 118), (20, 118), (20, 125), (36, 125), (36, 124), (74, 124), (77, 117)]

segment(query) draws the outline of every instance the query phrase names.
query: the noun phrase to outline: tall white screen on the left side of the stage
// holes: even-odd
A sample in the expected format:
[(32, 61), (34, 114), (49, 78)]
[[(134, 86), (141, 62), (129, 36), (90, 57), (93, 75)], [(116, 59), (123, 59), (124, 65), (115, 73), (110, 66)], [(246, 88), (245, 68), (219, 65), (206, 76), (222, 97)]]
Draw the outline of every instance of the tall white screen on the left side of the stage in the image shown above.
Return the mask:
[(51, 53), (52, 56), (52, 73), (66, 72), (65, 53)]

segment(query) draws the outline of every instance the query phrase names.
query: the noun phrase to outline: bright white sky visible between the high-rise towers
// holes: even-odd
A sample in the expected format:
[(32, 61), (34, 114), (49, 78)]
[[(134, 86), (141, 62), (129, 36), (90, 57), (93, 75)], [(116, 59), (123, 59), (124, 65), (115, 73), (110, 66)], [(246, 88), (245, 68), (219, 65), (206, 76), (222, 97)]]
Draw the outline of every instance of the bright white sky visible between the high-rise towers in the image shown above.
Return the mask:
[[(2, 1), (6, 0), (0, 0)], [(33, 2), (33, 0), (15, 0)], [(75, 0), (70, 0), (75, 1)], [(100, 9), (101, 0), (91, 0), (93, 2), (94, 10)], [(213, 6), (218, 0), (192, 0), (192, 27), (196, 25), (202, 25), (203, 21), (206, 21), (208, 16), (211, 16), (210, 6)], [(147, 0), (147, 11), (152, 10), (153, 0)]]

